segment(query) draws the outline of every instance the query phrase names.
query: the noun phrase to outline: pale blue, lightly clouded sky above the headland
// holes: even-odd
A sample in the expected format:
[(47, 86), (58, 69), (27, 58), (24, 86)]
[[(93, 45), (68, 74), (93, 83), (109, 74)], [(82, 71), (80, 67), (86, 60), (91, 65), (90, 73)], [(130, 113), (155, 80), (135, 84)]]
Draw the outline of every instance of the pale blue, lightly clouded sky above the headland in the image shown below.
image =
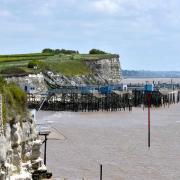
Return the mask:
[(0, 0), (0, 54), (92, 48), (123, 69), (180, 71), (179, 0)]

